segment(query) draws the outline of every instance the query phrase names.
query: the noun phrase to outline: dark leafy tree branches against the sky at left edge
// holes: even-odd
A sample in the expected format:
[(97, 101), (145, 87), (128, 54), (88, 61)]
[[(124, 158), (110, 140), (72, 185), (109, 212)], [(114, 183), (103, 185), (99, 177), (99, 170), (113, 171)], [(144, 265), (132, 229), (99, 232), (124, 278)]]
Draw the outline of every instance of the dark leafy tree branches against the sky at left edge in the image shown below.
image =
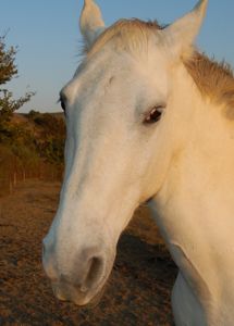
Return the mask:
[[(5, 47), (5, 36), (0, 37), (0, 87), (10, 82), (17, 75), (15, 65), (15, 55), (17, 49), (15, 47)], [(19, 110), (24, 103), (28, 102), (34, 92), (26, 92), (17, 100), (13, 99), (13, 95), (5, 88), (0, 88), (0, 130), (4, 128), (13, 112)]]

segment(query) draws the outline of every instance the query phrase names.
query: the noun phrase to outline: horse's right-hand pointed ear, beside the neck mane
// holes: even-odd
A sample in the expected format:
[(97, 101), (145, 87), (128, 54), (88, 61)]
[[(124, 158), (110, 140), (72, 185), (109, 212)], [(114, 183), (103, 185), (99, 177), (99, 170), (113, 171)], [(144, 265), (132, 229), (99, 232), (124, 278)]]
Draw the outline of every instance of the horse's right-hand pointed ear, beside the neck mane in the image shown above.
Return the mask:
[(206, 15), (207, 4), (208, 0), (200, 0), (194, 10), (163, 29), (175, 54), (183, 54), (194, 43)]

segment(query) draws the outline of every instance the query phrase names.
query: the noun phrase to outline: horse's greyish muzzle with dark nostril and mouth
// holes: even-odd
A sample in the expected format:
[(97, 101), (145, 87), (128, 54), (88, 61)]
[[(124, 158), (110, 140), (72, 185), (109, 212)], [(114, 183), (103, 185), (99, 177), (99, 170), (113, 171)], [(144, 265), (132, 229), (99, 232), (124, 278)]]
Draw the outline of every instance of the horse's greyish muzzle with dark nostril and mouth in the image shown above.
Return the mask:
[[(49, 250), (46, 242), (44, 241), (44, 268), (52, 283), (56, 297), (77, 305), (88, 304), (103, 288), (115, 254), (107, 254), (98, 247), (84, 248), (75, 254), (70, 267), (64, 264), (64, 258), (60, 262), (56, 251)], [(71, 260), (66, 259), (67, 262)]]

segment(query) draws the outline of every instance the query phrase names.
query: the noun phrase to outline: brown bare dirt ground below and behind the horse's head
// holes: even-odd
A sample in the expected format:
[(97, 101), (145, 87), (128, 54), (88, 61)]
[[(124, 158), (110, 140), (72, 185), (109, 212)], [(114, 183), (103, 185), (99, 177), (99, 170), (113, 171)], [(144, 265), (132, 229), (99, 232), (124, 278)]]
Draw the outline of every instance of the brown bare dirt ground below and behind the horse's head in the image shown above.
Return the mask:
[(120, 240), (99, 305), (79, 310), (54, 299), (40, 260), (59, 189), (59, 184), (30, 181), (0, 199), (0, 325), (172, 325), (176, 268), (145, 208)]

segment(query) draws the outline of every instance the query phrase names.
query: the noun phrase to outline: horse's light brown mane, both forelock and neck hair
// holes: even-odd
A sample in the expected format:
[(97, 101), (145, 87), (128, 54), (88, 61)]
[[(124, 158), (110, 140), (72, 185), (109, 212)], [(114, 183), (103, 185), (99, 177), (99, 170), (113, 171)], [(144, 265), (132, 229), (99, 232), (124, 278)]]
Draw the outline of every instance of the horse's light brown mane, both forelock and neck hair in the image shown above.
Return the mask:
[[(150, 35), (164, 27), (157, 21), (120, 20), (100, 35), (93, 48), (87, 51), (88, 55), (100, 50), (114, 37), (118, 49), (132, 53), (140, 51), (147, 48)], [(182, 61), (201, 95), (219, 104), (224, 103), (227, 108), (234, 108), (234, 74), (229, 64), (224, 61), (218, 63), (197, 50), (182, 58)]]

